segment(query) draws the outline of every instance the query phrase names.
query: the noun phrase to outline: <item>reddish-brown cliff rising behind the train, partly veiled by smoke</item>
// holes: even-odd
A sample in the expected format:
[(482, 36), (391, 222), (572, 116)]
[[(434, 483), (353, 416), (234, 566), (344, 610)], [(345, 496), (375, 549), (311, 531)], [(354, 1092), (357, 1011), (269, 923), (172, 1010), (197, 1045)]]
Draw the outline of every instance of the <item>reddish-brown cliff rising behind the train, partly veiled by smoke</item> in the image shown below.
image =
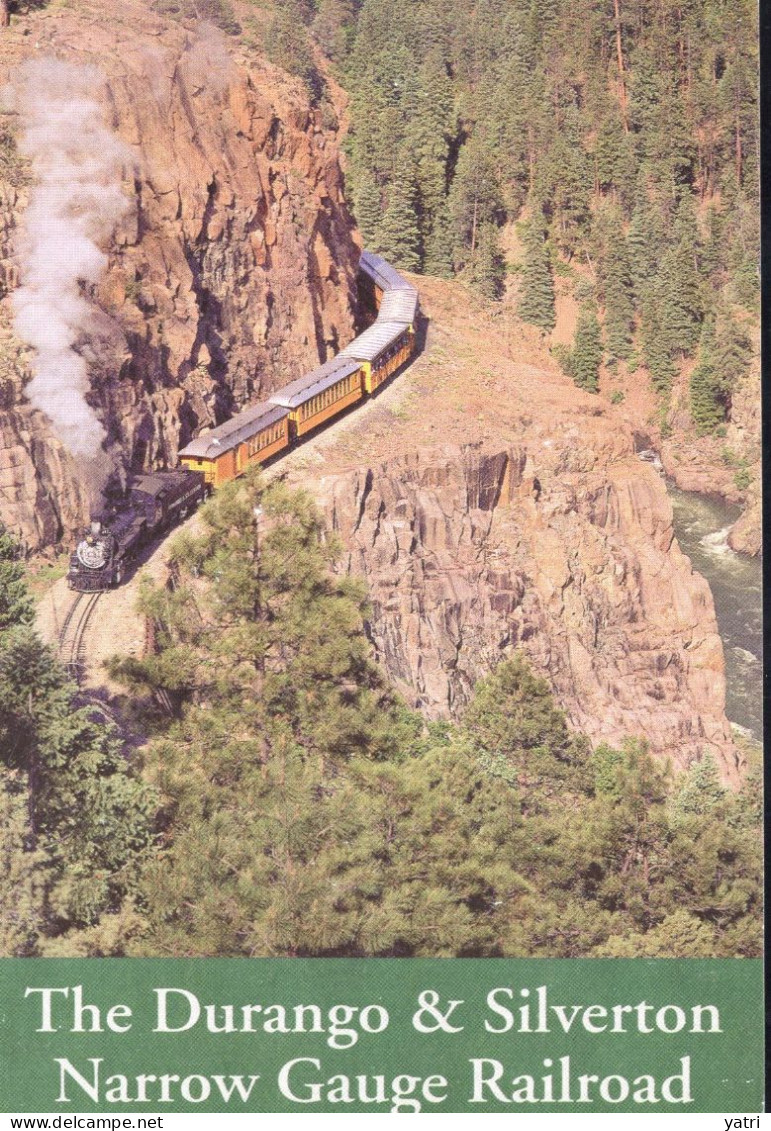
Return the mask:
[[(110, 444), (133, 469), (174, 461), (226, 417), (353, 337), (357, 249), (337, 129), (304, 90), (214, 28), (141, 0), (77, 0), (15, 18), (0, 83), (27, 58), (96, 63), (95, 92), (129, 147), (130, 207), (80, 344)], [(0, 286), (18, 284), (29, 190), (0, 198)], [(24, 402), (29, 357), (0, 311), (0, 518), (34, 549), (84, 517), (87, 484)]]

